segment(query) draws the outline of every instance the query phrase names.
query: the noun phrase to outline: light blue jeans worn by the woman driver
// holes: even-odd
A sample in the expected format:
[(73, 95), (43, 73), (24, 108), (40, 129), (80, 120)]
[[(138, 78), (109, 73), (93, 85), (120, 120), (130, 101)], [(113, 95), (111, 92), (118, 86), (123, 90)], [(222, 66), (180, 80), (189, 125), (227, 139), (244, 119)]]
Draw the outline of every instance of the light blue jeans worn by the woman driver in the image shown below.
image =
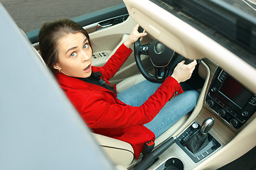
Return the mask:
[[(151, 83), (145, 80), (117, 94), (117, 98), (127, 105), (141, 106), (149, 96), (154, 94), (160, 85), (161, 84)], [(172, 98), (171, 101), (168, 101), (156, 117), (151, 120), (151, 122), (144, 125), (154, 132), (156, 137), (159, 137), (182, 118), (183, 115), (186, 115), (186, 113), (195, 108), (199, 93), (191, 89), (186, 83), (181, 83), (181, 87), (184, 93), (178, 94), (178, 96)]]

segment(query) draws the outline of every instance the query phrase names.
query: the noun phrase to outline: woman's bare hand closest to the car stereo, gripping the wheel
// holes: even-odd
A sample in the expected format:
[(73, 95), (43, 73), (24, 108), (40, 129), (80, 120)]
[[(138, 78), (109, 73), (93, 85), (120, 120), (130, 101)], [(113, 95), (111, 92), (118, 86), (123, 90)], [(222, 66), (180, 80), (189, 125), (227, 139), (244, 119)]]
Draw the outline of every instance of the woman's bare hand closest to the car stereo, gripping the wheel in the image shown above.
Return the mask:
[(171, 74), (171, 77), (174, 77), (174, 79), (176, 79), (178, 83), (181, 83), (183, 81), (190, 79), (193, 73), (193, 70), (195, 69), (197, 64), (196, 60), (193, 60), (193, 62), (189, 64), (184, 64), (184, 63), (185, 63), (184, 60), (182, 62), (179, 62), (174, 69), (174, 73)]

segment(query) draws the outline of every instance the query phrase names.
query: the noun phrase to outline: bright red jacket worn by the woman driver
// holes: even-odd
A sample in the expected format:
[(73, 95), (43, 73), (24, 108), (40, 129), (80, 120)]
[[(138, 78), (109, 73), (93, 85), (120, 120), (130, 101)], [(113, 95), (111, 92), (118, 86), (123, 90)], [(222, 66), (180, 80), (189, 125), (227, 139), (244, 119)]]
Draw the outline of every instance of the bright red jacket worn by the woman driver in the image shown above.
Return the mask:
[[(101, 72), (103, 79), (110, 84), (108, 80), (122, 67), (131, 52), (131, 49), (121, 45), (103, 67), (92, 67), (92, 71)], [(144, 127), (144, 124), (159, 113), (176, 91), (178, 94), (183, 92), (178, 82), (168, 77), (142, 106), (133, 107), (119, 101), (112, 91), (102, 86), (62, 73), (55, 74), (55, 77), (88, 127), (98, 134), (129, 142), (136, 159), (142, 152), (144, 143), (154, 140), (154, 133)]]

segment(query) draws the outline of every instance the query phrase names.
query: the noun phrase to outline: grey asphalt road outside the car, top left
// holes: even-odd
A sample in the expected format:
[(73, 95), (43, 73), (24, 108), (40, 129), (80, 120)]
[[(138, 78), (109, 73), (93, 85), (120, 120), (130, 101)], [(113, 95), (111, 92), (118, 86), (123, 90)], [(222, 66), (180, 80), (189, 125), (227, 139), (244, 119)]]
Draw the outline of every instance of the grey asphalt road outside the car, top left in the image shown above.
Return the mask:
[(74, 18), (117, 4), (122, 0), (0, 0), (19, 28), (25, 32), (41, 28), (57, 18)]

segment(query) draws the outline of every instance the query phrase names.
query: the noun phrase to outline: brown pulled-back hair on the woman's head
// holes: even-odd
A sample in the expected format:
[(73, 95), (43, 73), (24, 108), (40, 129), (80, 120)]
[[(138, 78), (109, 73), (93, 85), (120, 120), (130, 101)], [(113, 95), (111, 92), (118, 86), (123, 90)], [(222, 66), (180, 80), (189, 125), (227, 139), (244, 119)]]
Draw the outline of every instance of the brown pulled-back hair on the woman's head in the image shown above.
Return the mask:
[(41, 27), (39, 32), (39, 49), (44, 62), (46, 62), (53, 74), (55, 73), (53, 65), (58, 62), (58, 40), (70, 33), (83, 33), (91, 46), (90, 37), (86, 30), (70, 19), (58, 19), (44, 23)]

